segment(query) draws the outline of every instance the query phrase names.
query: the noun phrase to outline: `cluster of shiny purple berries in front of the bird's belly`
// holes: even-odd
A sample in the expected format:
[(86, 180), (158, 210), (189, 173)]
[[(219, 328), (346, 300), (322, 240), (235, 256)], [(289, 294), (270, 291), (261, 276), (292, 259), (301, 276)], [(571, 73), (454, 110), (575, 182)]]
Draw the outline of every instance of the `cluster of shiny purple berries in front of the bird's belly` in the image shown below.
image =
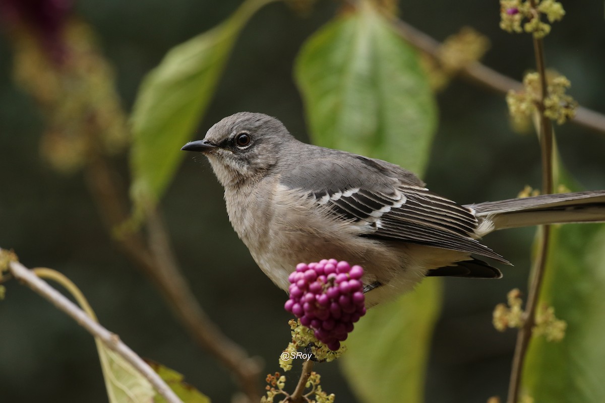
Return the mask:
[(365, 315), (361, 266), (351, 267), (344, 260), (299, 263), (290, 274), (290, 299), (284, 308), (303, 326), (315, 331), (315, 337), (330, 350), (352, 332), (353, 323)]

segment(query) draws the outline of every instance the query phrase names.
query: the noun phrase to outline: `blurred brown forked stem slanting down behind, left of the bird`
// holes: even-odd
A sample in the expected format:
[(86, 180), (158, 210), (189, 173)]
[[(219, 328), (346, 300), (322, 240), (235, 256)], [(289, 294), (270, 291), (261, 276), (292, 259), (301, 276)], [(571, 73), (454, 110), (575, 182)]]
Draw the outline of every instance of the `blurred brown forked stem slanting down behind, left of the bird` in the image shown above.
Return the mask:
[[(89, 156), (87, 184), (108, 231), (128, 219), (123, 192), (117, 185), (117, 174), (105, 156)], [(149, 246), (140, 232), (117, 237), (117, 245), (159, 288), (174, 315), (183, 323), (197, 343), (234, 373), (251, 402), (260, 400), (258, 380), (260, 366), (237, 343), (224, 335), (201, 308), (181, 273), (159, 213), (148, 208)]]

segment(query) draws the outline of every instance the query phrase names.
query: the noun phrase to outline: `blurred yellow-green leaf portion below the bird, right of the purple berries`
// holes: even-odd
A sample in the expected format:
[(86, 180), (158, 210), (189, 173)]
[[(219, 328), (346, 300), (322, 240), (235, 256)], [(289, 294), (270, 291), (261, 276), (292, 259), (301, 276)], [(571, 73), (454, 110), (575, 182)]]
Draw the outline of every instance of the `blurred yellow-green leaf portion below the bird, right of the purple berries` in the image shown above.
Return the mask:
[(436, 280), (426, 280), (393, 303), (371, 308), (355, 324), (340, 363), (364, 402), (424, 401), (428, 348), (442, 296)]

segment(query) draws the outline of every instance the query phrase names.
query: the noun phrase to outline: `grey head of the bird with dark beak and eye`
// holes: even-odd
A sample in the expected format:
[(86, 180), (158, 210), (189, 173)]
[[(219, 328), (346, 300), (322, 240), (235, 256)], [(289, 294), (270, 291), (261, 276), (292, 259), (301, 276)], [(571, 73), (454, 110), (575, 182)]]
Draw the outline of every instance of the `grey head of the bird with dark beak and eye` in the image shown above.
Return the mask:
[(223, 118), (203, 140), (191, 141), (181, 150), (206, 155), (218, 181), (228, 187), (262, 179), (290, 141), (295, 140), (276, 118), (240, 112)]

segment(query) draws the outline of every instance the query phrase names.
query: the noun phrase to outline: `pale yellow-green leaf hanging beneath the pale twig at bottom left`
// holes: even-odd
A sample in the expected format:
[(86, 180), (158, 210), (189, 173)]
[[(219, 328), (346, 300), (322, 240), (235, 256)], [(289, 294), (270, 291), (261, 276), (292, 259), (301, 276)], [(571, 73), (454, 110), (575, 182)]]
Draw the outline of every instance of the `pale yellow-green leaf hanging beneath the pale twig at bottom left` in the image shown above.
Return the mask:
[(95, 338), (110, 403), (153, 403), (155, 390), (139, 371)]

